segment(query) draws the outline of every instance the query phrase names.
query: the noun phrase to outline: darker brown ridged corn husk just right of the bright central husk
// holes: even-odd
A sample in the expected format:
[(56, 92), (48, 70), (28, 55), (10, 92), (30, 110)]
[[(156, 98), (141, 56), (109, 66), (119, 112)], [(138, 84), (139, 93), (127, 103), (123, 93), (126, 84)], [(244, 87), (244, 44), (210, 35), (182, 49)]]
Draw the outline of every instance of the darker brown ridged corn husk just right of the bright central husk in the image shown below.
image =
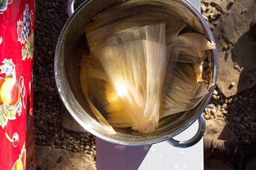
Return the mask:
[(160, 117), (191, 110), (208, 93), (206, 86), (198, 83), (193, 64), (177, 62)]

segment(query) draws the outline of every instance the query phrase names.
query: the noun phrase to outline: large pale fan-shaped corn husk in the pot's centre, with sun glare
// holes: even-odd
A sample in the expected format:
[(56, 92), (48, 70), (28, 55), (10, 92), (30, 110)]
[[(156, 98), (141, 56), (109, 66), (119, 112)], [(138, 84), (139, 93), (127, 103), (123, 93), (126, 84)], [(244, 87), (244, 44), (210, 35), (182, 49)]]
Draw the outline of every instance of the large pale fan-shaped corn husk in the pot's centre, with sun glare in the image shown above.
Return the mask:
[[(104, 42), (108, 46), (92, 50), (133, 121), (131, 126), (121, 121), (124, 112), (108, 111), (112, 125), (123, 127), (121, 121), (143, 133), (157, 127), (170, 55), (165, 43), (165, 24), (158, 24), (119, 32)], [(159, 80), (152, 81), (152, 77)]]

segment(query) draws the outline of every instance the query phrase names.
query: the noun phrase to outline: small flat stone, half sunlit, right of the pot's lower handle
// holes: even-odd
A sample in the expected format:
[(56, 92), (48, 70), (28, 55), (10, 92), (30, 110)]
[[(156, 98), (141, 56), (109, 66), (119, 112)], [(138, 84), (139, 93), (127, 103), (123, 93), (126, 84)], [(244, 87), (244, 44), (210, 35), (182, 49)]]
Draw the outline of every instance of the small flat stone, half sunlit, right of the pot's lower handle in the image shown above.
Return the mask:
[(204, 137), (211, 139), (221, 139), (225, 141), (238, 142), (236, 135), (227, 126), (224, 119), (210, 119), (206, 121)]

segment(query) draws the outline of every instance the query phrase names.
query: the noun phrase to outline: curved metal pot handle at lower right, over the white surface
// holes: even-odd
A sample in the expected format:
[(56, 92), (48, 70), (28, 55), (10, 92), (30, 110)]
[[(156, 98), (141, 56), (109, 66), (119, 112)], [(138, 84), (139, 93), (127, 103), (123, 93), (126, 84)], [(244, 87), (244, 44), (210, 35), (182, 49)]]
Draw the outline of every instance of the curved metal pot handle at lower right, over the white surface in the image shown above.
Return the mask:
[(174, 147), (180, 147), (180, 148), (185, 148), (185, 147), (191, 147), (194, 144), (197, 144), (202, 137), (204, 136), (204, 131), (205, 131), (206, 123), (203, 114), (198, 118), (198, 131), (193, 136), (191, 139), (187, 141), (177, 141), (175, 139), (168, 139), (166, 142), (168, 142), (170, 145)]

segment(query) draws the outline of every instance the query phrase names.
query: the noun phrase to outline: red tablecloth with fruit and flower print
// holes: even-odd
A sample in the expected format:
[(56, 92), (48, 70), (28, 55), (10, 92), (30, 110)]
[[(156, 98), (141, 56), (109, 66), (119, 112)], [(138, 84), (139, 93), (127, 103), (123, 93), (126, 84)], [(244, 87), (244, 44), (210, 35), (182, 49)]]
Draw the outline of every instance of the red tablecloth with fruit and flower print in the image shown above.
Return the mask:
[(35, 169), (34, 0), (0, 0), (0, 170)]

